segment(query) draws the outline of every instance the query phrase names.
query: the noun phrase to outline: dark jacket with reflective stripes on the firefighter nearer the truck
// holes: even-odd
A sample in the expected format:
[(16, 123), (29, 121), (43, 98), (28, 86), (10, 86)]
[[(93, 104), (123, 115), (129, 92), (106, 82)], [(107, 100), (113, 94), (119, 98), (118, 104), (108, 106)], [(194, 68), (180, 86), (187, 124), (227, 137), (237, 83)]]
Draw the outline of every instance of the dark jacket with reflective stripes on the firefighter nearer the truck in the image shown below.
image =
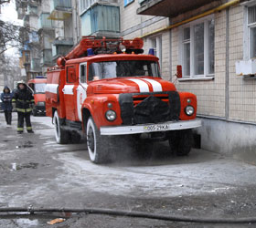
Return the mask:
[(35, 102), (34, 96), (27, 85), (24, 89), (16, 89), (12, 101), (16, 102), (16, 111), (24, 113), (32, 111), (31, 105)]

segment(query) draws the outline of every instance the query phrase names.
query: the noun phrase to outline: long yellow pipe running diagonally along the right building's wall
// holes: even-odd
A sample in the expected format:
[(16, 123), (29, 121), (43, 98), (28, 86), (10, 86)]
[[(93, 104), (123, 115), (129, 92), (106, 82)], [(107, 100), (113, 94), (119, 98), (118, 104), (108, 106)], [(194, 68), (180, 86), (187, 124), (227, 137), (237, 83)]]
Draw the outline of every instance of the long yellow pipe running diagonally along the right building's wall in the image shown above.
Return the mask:
[(156, 29), (155, 31), (152, 31), (150, 33), (146, 33), (144, 34), (143, 36), (140, 36), (140, 38), (144, 38), (146, 36), (152, 36), (152, 35), (155, 35), (157, 33), (161, 33), (161, 32), (164, 32), (164, 31), (167, 31), (167, 30), (170, 30), (172, 28), (175, 28), (177, 26), (182, 26), (184, 24), (187, 24), (188, 22), (191, 22), (191, 21), (195, 21), (199, 18), (202, 18), (204, 16), (209, 16), (209, 15), (212, 15), (216, 12), (219, 12), (221, 10), (224, 10), (224, 9), (227, 9), (229, 8), (230, 6), (232, 5), (237, 5), (241, 2), (242, 0), (232, 0), (230, 1), (229, 3), (226, 3), (226, 4), (223, 4), (223, 5), (219, 5), (218, 7), (214, 8), (214, 9), (211, 9), (211, 10), (208, 10), (207, 12), (205, 13), (202, 13), (200, 15), (197, 15), (197, 16), (192, 16), (190, 18), (188, 18), (187, 20), (184, 20), (184, 21), (181, 21), (181, 22), (178, 22), (174, 25), (171, 25), (171, 26), (165, 26), (165, 27), (162, 27), (162, 28), (159, 28), (159, 29)]

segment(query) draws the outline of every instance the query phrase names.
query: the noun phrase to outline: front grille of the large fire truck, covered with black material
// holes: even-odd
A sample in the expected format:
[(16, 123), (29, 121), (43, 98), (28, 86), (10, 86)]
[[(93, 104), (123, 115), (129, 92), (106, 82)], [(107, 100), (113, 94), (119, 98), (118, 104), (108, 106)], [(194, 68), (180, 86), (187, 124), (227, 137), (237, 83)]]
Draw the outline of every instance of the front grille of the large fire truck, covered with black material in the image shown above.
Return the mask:
[(180, 99), (176, 91), (121, 94), (119, 103), (124, 125), (179, 119)]

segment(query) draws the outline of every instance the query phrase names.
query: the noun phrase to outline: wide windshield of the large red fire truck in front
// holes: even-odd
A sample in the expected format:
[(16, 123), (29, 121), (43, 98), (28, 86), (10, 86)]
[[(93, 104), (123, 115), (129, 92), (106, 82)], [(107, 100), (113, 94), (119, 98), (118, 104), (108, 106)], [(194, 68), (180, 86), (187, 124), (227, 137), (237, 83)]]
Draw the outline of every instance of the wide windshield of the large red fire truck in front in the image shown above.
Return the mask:
[(160, 77), (157, 62), (148, 60), (125, 60), (95, 62), (89, 68), (89, 81), (121, 77)]

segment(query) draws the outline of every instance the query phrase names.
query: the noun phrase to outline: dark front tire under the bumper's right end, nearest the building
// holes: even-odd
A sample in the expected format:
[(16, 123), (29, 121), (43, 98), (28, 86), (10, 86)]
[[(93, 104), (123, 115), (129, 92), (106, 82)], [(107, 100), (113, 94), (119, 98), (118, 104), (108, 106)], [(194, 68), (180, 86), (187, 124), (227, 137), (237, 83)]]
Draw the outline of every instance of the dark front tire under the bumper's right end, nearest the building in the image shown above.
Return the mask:
[(177, 156), (186, 156), (193, 145), (192, 130), (174, 130), (169, 132), (171, 151)]

